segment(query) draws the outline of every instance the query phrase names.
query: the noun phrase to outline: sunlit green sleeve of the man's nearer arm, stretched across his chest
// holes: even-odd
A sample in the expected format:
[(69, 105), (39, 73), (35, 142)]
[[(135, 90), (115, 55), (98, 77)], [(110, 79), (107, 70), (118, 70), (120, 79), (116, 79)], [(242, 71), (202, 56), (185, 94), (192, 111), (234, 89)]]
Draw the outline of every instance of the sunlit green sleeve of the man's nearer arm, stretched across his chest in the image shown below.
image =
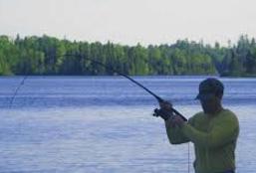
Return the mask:
[(209, 132), (199, 131), (189, 123), (184, 123), (181, 130), (194, 144), (218, 147), (237, 138), (239, 124), (236, 116), (226, 115), (215, 122)]

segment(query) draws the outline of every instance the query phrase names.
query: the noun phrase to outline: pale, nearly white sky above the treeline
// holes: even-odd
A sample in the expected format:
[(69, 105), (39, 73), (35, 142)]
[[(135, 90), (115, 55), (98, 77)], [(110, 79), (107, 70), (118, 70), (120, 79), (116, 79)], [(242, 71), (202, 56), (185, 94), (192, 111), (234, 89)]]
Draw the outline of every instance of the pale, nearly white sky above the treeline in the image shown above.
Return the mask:
[(123, 45), (256, 37), (255, 0), (0, 0), (0, 35)]

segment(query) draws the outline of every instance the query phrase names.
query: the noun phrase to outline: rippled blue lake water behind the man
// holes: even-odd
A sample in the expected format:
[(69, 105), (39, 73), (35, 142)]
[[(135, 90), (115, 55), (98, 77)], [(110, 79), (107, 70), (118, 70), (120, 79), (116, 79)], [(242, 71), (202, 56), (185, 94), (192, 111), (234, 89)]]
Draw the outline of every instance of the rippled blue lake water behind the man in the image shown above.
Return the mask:
[[(186, 117), (206, 77), (134, 77)], [(156, 100), (122, 77), (0, 78), (0, 172), (193, 172), (193, 145), (170, 145)], [(255, 172), (256, 79), (220, 79), (240, 120), (237, 172)], [(189, 152), (188, 152), (189, 151)], [(189, 154), (188, 154), (189, 153)], [(189, 157), (189, 158), (188, 158)], [(188, 167), (189, 165), (189, 167)]]

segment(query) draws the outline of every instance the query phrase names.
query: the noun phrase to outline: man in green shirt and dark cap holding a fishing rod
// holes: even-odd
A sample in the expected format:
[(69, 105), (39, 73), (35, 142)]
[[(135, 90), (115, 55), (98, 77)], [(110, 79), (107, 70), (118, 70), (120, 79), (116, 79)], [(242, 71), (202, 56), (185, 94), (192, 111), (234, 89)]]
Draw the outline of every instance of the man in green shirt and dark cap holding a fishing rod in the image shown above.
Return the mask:
[[(187, 122), (173, 115), (171, 103), (160, 103), (159, 116), (165, 120), (171, 144), (194, 144), (195, 173), (234, 173), (235, 147), (239, 133), (236, 115), (222, 107), (224, 86), (216, 79), (206, 79), (199, 85), (196, 96), (203, 111)], [(162, 111), (161, 111), (162, 110)]]

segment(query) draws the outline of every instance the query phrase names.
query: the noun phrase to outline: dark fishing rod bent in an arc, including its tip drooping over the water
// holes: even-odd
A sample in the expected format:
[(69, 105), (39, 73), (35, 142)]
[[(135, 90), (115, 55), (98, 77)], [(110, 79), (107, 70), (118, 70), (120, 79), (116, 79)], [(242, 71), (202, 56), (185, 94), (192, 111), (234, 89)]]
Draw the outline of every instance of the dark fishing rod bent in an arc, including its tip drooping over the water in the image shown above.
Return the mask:
[[(139, 87), (142, 87), (145, 91), (147, 91), (149, 94), (151, 94), (152, 96), (154, 96), (158, 103), (162, 103), (162, 102), (165, 102), (165, 100), (163, 98), (161, 98), (160, 96), (156, 95), (154, 92), (152, 92), (151, 90), (149, 90), (148, 88), (146, 88), (145, 86), (142, 86), (141, 84), (139, 84), (138, 82), (134, 81), (133, 79), (131, 79), (130, 77), (128, 77), (128, 75), (126, 74), (123, 74), (121, 72), (119, 72), (118, 70), (115, 70), (113, 67), (110, 67), (110, 66), (107, 66), (105, 64), (103, 64), (102, 62), (99, 62), (97, 60), (92, 60), (92, 59), (89, 59), (89, 58), (86, 58), (82, 55), (79, 55), (79, 54), (65, 54), (65, 55), (61, 55), (61, 56), (57, 56), (57, 58), (60, 58), (60, 57), (79, 57), (79, 58), (82, 58), (84, 60), (87, 60), (87, 61), (90, 61), (94, 64), (97, 64), (97, 65), (100, 65), (102, 67), (104, 67), (106, 70), (110, 71), (110, 72), (113, 72), (113, 73), (117, 73), (118, 75), (122, 76), (122, 77), (125, 77), (126, 79), (128, 79), (130, 82), (132, 82), (133, 84), (135, 84), (136, 86), (139, 86)], [(12, 98), (11, 98), (11, 101), (10, 101), (10, 104), (9, 104), (9, 108), (12, 107), (12, 104), (13, 104), (13, 101), (15, 99), (15, 96), (17, 95), (18, 93), (18, 90), (21, 86), (24, 85), (24, 82), (25, 80), (28, 78), (28, 76), (25, 76), (23, 81), (21, 82), (21, 84), (16, 88)], [(171, 111), (174, 112), (176, 115), (179, 115), (183, 120), (187, 120), (180, 112), (178, 112), (175, 108), (173, 108), (171, 106)]]

